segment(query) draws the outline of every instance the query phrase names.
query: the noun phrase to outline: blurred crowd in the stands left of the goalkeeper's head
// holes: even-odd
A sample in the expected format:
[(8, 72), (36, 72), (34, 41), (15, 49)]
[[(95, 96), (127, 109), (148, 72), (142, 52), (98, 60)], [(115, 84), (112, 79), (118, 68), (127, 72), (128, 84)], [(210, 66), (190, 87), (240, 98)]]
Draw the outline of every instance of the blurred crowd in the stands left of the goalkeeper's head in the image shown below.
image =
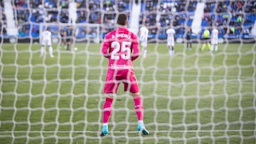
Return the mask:
[[(129, 0), (14, 0), (18, 35), (38, 36), (39, 25), (35, 23), (69, 23), (70, 2), (75, 2), (77, 6), (75, 23), (104, 23), (106, 28), (102, 31), (106, 33), (114, 26), (117, 12), (129, 13), (131, 9)], [(1, 8), (4, 8), (4, 1), (1, 1)], [(1, 29), (4, 33), (5, 26), (6, 16), (4, 9), (1, 9)]]

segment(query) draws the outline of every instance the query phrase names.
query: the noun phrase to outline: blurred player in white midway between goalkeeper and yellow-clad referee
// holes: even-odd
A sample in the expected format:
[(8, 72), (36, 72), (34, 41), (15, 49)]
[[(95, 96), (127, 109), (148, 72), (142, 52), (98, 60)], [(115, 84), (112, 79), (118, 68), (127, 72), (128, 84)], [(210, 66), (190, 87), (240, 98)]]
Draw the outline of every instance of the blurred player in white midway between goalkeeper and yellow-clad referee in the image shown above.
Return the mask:
[(175, 43), (175, 31), (174, 27), (170, 26), (170, 28), (167, 29), (167, 47), (169, 50), (169, 55), (174, 55), (174, 43)]

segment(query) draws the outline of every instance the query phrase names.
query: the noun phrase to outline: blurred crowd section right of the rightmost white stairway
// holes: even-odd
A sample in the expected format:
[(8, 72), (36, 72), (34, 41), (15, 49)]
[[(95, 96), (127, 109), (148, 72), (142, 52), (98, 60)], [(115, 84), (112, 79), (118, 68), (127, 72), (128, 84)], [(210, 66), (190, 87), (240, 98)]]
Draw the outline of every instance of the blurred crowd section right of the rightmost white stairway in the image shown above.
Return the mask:
[(203, 26), (218, 26), (220, 35), (249, 35), (256, 19), (256, 1), (208, 1)]

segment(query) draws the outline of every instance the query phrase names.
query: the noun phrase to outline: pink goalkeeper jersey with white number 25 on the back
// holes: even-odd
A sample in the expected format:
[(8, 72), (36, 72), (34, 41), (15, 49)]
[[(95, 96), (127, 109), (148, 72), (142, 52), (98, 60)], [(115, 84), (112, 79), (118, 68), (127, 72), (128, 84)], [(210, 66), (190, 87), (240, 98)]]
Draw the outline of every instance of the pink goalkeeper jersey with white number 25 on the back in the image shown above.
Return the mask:
[(132, 69), (132, 61), (139, 57), (137, 35), (119, 27), (105, 35), (102, 55), (109, 59), (109, 70)]

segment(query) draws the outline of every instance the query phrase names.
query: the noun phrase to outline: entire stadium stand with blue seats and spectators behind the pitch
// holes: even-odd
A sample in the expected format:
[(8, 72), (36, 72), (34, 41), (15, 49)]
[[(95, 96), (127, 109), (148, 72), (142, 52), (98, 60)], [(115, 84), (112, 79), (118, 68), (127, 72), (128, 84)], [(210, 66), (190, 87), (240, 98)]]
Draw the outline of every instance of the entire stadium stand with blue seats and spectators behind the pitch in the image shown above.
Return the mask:
[[(73, 23), (99, 23), (101, 35), (114, 28), (119, 12), (132, 13), (133, 1), (129, 0), (74, 0), (76, 4)], [(137, 1), (138, 2), (138, 1)], [(180, 1), (180, 0), (142, 0), (140, 2), (139, 23), (149, 27), (149, 38), (166, 39), (166, 28), (174, 25), (176, 38), (183, 38), (186, 27), (201, 23), (193, 38), (200, 35), (204, 27), (218, 26), (220, 38), (251, 38), (256, 34), (256, 2), (241, 1)], [(199, 4), (201, 4), (199, 6)], [(10, 20), (7, 9), (12, 8), (14, 18)], [(18, 38), (38, 38), (40, 23), (70, 23), (69, 0), (12, 0), (1, 1), (1, 37), (16, 35)], [(203, 6), (203, 11), (198, 7)], [(6, 12), (7, 11), (7, 12)], [(198, 15), (202, 13), (203, 18)], [(198, 24), (197, 24), (198, 26)], [(9, 29), (17, 30), (11, 33)], [(194, 28), (195, 30), (196, 28)], [(58, 35), (58, 33), (53, 33)], [(81, 35), (78, 35), (81, 37)]]

